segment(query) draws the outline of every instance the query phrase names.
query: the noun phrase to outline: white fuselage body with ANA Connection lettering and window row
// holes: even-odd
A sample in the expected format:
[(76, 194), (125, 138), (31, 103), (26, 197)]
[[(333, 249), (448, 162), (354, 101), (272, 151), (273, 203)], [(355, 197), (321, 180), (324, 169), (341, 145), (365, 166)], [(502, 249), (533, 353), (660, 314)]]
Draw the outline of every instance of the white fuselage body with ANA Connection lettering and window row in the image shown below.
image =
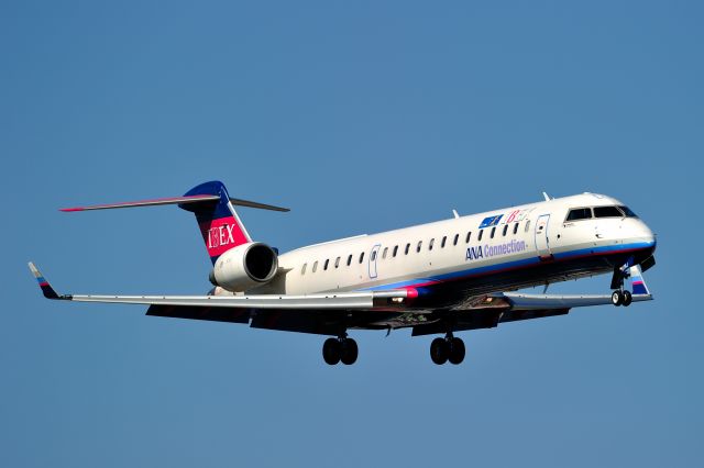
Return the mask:
[[(654, 248), (652, 232), (638, 218), (566, 221), (571, 209), (604, 205), (623, 204), (584, 193), (301, 247), (280, 255), (279, 268), (287, 272), (256, 291), (308, 294), (422, 288), (530, 269), (544, 261)], [(558, 279), (536, 275), (496, 290), (601, 272), (603, 267)], [(491, 285), (484, 289), (492, 292)]]

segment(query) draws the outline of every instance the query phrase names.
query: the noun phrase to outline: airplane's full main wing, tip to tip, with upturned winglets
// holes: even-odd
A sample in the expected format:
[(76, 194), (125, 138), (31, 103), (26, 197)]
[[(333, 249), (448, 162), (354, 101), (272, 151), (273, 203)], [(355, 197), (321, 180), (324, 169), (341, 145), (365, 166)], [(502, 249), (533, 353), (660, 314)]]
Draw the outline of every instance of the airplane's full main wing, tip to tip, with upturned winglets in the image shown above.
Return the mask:
[[(341, 321), (353, 327), (413, 327), (413, 335), (491, 328), (499, 323), (564, 315), (573, 308), (612, 303), (610, 294), (525, 294), (501, 292), (468, 298), (449, 309), (413, 311), (407, 290), (359, 291), (327, 294), (254, 296), (96, 296), (59, 294), (30, 263), (30, 270), (47, 299), (150, 305), (147, 315), (250, 323), (257, 328), (334, 334)], [(632, 301), (652, 296), (640, 269), (631, 268)], [(256, 313), (252, 313), (256, 311)], [(328, 311), (328, 313), (321, 313)], [(399, 319), (400, 317), (400, 319)]]

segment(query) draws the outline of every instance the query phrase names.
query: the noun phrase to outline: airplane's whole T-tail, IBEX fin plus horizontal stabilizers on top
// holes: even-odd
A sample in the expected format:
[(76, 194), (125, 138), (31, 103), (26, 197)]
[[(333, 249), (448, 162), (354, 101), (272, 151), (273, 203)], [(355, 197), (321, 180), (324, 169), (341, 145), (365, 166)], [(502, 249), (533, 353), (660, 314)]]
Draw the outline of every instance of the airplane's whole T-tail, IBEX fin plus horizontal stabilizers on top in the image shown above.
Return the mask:
[(202, 235), (206, 249), (213, 265), (226, 252), (252, 242), (252, 237), (234, 210), (234, 205), (273, 211), (289, 211), (286, 208), (231, 198), (228, 189), (218, 180), (196, 186), (188, 190), (183, 197), (65, 208), (61, 211), (75, 212), (162, 204), (178, 204), (180, 209), (190, 211), (196, 215), (200, 234)]

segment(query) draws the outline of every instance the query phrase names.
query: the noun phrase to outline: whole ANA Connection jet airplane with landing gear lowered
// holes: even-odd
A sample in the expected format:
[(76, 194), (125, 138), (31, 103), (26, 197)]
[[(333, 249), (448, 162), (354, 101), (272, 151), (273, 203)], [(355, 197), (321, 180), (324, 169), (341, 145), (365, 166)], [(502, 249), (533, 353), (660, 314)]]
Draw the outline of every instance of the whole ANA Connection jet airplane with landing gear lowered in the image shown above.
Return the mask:
[[(45, 298), (148, 305), (146, 315), (249, 324), (330, 336), (329, 365), (356, 361), (349, 331), (411, 328), (444, 335), (430, 344), (437, 365), (461, 364), (454, 333), (556, 315), (573, 308), (652, 300), (642, 272), (656, 236), (628, 207), (582, 193), (411, 227), (363, 234), (279, 254), (253, 241), (234, 207), (288, 209), (231, 198), (220, 181), (183, 197), (62, 209), (80, 212), (177, 204), (195, 214), (212, 263), (205, 296), (61, 294), (33, 263)], [(608, 294), (547, 294), (551, 283), (610, 274)], [(631, 283), (632, 292), (625, 285)], [(541, 294), (516, 292), (544, 287)]]

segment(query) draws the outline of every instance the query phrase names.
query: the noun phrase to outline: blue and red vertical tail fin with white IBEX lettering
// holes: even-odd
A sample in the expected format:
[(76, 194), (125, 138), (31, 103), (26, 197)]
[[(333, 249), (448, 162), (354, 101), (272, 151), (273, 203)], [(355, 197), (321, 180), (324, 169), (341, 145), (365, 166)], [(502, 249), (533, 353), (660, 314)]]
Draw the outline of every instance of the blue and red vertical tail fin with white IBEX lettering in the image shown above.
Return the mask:
[(196, 214), (200, 234), (202, 234), (202, 239), (213, 265), (223, 253), (252, 242), (252, 237), (246, 232), (237, 211), (234, 211), (228, 189), (222, 182), (217, 180), (205, 182), (184, 194), (184, 197), (194, 196), (220, 197), (218, 200), (178, 205), (180, 209)]

